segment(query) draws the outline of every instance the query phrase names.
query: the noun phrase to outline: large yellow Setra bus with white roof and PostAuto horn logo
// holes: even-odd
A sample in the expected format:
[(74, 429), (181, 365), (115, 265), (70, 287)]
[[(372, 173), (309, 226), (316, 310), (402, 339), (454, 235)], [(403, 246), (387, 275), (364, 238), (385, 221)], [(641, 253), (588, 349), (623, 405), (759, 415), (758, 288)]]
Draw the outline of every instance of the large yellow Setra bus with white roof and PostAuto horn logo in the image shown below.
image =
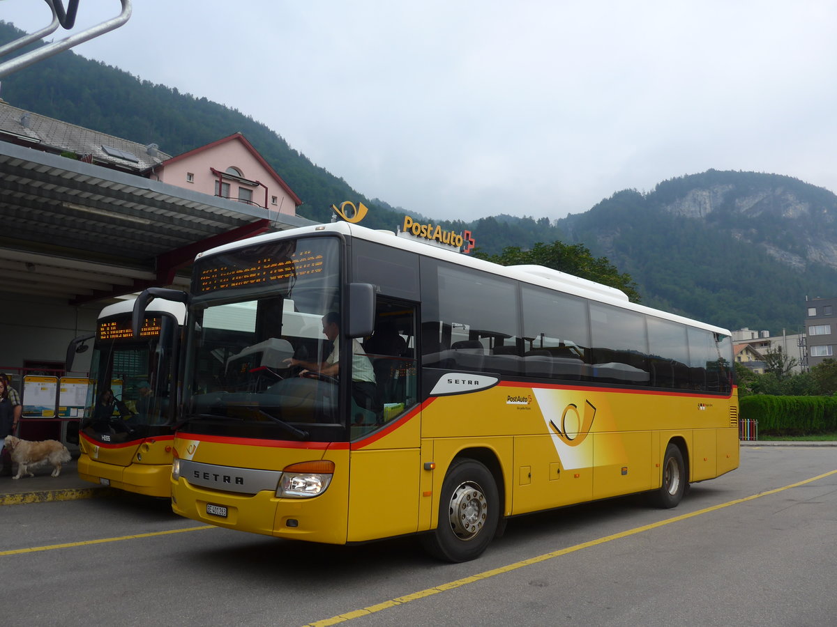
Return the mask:
[(203, 523), (460, 562), (738, 465), (727, 330), (548, 268), (337, 222), (198, 255), (188, 300), (172, 507)]

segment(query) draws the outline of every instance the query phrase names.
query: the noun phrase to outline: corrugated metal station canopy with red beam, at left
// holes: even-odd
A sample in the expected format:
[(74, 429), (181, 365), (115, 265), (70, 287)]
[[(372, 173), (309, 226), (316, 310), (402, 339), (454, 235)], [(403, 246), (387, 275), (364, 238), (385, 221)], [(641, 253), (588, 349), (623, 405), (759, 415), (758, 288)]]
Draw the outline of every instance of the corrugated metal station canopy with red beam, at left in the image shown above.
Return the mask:
[(81, 304), (185, 288), (198, 252), (311, 223), (0, 141), (0, 294)]

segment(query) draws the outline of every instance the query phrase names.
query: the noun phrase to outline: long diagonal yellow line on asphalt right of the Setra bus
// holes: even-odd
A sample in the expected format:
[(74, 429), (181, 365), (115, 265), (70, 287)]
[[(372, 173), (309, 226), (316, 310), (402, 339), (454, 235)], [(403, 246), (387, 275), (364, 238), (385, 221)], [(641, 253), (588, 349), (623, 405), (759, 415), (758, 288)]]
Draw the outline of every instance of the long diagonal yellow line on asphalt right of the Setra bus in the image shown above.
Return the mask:
[(629, 529), (628, 531), (614, 533), (613, 535), (605, 536), (604, 538), (598, 538), (597, 540), (590, 540), (589, 542), (576, 544), (573, 547), (562, 548), (558, 551), (552, 551), (552, 553), (544, 553), (543, 555), (538, 555), (534, 558), (524, 559), (521, 562), (511, 563), (507, 566), (501, 566), (500, 568), (492, 568), (491, 570), (486, 570), (484, 573), (471, 575), (470, 577), (465, 577), (464, 579), (457, 579), (456, 581), (451, 581), (447, 584), (440, 584), (438, 586), (435, 586), (434, 588), (428, 588), (425, 590), (420, 590), (419, 592), (413, 592), (413, 594), (407, 594), (403, 597), (390, 599), (388, 601), (384, 601), (383, 603), (370, 605), (363, 609), (355, 609), (354, 611), (347, 612), (346, 614), (332, 616), (330, 619), (317, 620), (314, 623), (307, 624), (306, 627), (327, 627), (331, 624), (344, 623), (347, 620), (357, 619), (362, 616), (367, 616), (368, 614), (374, 614), (375, 612), (380, 612), (383, 609), (394, 608), (397, 605), (403, 605), (409, 603), (410, 601), (424, 599), (424, 597), (439, 594), (440, 592), (446, 592), (455, 588), (461, 588), (462, 586), (468, 584), (475, 584), (478, 581), (494, 577), (498, 574), (510, 573), (512, 570), (516, 570), (517, 568), (523, 568), (524, 566), (531, 566), (532, 564), (546, 562), (547, 559), (557, 558), (562, 555), (567, 555), (567, 553), (575, 553), (576, 551), (581, 551), (583, 548), (595, 547), (598, 544), (603, 544), (612, 540), (618, 540), (619, 538), (627, 538), (629, 536), (636, 535), (637, 533), (643, 533), (646, 531), (650, 531), (651, 529), (664, 527), (665, 525), (670, 525), (671, 523), (679, 523), (681, 520), (686, 520), (687, 518), (701, 516), (709, 512), (716, 512), (719, 509), (723, 509), (724, 507), (739, 505), (747, 501), (752, 501), (756, 498), (767, 497), (771, 494), (783, 492), (784, 490), (788, 490), (792, 487), (804, 486), (806, 483), (815, 482), (818, 479), (823, 479), (824, 477), (829, 477), (834, 474), (837, 474), (837, 470), (825, 472), (822, 475), (818, 475), (817, 477), (811, 477), (810, 479), (805, 479), (801, 482), (791, 483), (789, 486), (777, 487), (774, 490), (768, 490), (767, 492), (759, 492), (749, 497), (737, 498), (734, 501), (721, 503), (720, 505), (713, 505), (712, 507), (706, 507), (704, 509), (697, 510), (696, 512), (690, 512), (688, 514), (682, 514), (680, 516), (666, 518), (665, 520), (661, 520), (658, 523), (651, 523), (650, 525), (644, 525), (642, 527)]

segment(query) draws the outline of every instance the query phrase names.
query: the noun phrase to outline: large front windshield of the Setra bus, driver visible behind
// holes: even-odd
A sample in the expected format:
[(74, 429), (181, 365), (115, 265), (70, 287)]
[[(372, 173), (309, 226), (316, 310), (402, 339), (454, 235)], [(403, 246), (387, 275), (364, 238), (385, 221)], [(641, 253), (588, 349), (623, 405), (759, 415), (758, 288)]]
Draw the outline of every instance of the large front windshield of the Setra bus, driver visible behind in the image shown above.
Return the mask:
[(344, 438), (336, 378), (300, 365), (322, 364), (334, 348), (323, 318), (339, 312), (340, 250), (336, 237), (304, 237), (198, 259), (182, 428)]

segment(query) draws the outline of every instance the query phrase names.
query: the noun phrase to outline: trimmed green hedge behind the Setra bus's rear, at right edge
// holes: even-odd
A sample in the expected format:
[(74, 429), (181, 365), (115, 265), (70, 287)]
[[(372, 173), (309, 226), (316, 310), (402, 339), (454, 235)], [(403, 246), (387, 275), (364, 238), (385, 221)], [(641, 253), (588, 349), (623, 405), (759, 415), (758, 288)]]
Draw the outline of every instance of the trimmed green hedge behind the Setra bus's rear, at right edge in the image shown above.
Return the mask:
[(808, 436), (837, 431), (834, 396), (744, 396), (741, 418), (758, 421), (758, 432), (773, 436)]

